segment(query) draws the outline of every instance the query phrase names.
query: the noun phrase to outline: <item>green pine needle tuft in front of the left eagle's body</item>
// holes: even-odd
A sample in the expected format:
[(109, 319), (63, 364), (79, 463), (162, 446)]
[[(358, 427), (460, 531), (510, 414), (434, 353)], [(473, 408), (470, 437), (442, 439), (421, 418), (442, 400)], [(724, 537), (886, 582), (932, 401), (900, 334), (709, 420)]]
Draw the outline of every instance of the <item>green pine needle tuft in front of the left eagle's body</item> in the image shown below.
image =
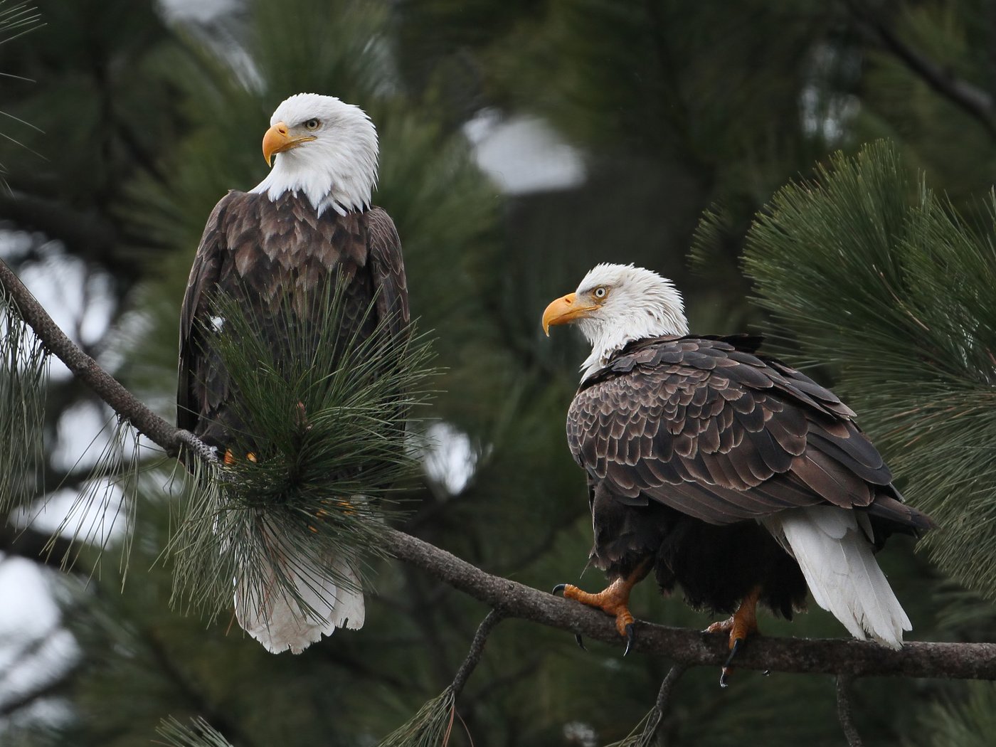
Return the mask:
[(293, 580), (309, 570), (289, 558), (352, 588), (352, 574), (322, 559), (344, 559), (362, 577), (383, 554), (390, 493), (416, 467), (405, 422), (426, 395), (428, 348), (389, 334), (392, 320), (374, 323), (375, 300), (357, 325), (373, 333), (346, 340), (342, 288), (311, 301), (310, 312), (288, 302), (264, 318), (234, 297), (214, 299), (219, 329), (208, 345), (238, 392), (232, 414), (244, 429), (231, 433), (228, 463), (188, 459), (193, 479), (166, 550), (174, 606), (213, 616), (230, 607), (233, 583), (258, 600), (275, 576), (301, 609), (318, 612)]

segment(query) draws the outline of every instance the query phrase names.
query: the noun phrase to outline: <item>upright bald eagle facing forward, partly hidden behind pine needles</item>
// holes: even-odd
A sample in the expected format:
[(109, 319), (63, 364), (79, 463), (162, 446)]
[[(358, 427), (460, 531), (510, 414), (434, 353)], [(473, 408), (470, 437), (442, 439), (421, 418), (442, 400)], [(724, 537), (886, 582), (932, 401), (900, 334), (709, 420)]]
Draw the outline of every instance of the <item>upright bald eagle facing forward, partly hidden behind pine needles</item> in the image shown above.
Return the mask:
[[(230, 446), (236, 434), (251, 442), (252, 427), (238, 414), (239, 391), (212, 344), (224, 324), (213, 311), (217, 294), (235, 299), (261, 326), (278, 361), (290, 354), (275, 332), (282, 328), (277, 318), (323, 319), (314, 316), (322, 314), (314, 302), (331, 298), (328, 291), (337, 284), (340, 341), (364, 339), (378, 324), (402, 336), (408, 325), (397, 232), (387, 213), (371, 206), (377, 136), (370, 118), (339, 99), (298, 94), (277, 108), (270, 124), (263, 155), (273, 168), (250, 191), (230, 191), (215, 206), (180, 313), (177, 426), (226, 461), (240, 458)], [(274, 588), (260, 594), (236, 586), (236, 616), (253, 637), (271, 651), (298, 652), (337, 626), (363, 625), (355, 569), (334, 558), (318, 567), (314, 559), (296, 557), (280, 538), (273, 541), (283, 566), (281, 574), (271, 569)], [(337, 585), (330, 569), (356, 582), (354, 589)], [(301, 598), (323, 614), (303, 611), (279, 593), (278, 575), (295, 579)]]

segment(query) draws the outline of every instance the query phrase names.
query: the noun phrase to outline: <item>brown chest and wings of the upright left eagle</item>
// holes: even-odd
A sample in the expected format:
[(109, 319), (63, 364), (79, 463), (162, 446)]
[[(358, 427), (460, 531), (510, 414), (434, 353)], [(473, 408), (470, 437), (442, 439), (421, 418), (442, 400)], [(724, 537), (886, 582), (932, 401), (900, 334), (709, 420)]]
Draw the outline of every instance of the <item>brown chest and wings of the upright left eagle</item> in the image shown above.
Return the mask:
[[(273, 201), (238, 191), (222, 198), (204, 229), (180, 314), (177, 426), (219, 447), (231, 431), (246, 430), (231, 406), (237, 392), (211, 345), (218, 292), (237, 299), (266, 332), (288, 311), (321, 313), (312, 305), (331, 299), (337, 282), (343, 284), (340, 340), (366, 338), (382, 320), (391, 334), (407, 325), (400, 242), (383, 210), (318, 216), (307, 198), (291, 192)], [(375, 313), (369, 314), (374, 296)], [(268, 339), (274, 358), (282, 360), (286, 340), (278, 334)]]

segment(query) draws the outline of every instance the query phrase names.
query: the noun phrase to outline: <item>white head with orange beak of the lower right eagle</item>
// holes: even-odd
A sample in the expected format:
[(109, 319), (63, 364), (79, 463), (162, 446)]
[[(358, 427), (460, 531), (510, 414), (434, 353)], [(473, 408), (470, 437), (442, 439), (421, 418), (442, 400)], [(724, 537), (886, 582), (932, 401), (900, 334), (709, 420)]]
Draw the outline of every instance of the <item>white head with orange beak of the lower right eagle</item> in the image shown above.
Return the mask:
[(583, 377), (606, 366), (633, 340), (688, 334), (684, 303), (671, 281), (633, 265), (597, 265), (577, 291), (543, 312), (547, 335), (553, 325), (572, 323), (592, 344), (592, 355), (581, 365)]

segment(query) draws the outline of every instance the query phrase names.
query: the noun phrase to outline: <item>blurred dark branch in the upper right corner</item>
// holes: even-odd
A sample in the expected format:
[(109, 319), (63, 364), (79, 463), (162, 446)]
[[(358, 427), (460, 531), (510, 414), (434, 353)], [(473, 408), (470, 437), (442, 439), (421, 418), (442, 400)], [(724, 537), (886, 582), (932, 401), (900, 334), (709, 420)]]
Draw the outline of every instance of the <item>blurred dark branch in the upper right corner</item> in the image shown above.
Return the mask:
[(862, 0), (846, 0), (858, 29), (880, 45), (936, 93), (967, 112), (996, 137), (996, 101), (986, 91), (957, 78), (950, 70), (903, 42)]

